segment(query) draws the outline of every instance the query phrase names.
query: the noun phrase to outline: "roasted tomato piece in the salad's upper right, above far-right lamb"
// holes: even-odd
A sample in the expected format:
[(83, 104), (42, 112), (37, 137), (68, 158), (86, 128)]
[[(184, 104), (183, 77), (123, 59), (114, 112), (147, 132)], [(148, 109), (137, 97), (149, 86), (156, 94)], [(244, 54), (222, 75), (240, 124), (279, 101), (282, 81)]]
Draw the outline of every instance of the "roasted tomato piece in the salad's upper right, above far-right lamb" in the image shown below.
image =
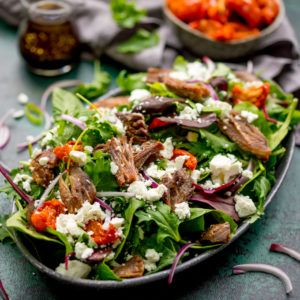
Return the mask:
[(250, 102), (257, 107), (263, 107), (270, 93), (270, 84), (265, 82), (261, 85), (251, 85), (243, 88), (235, 85), (232, 89), (232, 99), (235, 104), (239, 102)]

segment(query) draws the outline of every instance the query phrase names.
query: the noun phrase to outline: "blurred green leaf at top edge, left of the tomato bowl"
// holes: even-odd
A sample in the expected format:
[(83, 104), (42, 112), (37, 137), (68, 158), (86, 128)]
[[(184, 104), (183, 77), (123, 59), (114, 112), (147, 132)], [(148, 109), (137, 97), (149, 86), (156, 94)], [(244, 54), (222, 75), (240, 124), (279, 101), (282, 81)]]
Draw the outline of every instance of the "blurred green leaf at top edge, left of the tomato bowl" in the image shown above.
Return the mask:
[(112, 16), (122, 28), (132, 28), (146, 15), (144, 9), (138, 9), (135, 3), (126, 0), (112, 0), (110, 3)]

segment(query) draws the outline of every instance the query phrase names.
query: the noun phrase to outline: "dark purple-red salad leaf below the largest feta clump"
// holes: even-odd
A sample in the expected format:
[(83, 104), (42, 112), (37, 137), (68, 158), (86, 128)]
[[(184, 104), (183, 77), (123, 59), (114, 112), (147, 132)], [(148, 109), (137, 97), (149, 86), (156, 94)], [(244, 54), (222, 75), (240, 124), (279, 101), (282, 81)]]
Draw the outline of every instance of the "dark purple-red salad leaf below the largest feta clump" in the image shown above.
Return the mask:
[(238, 214), (235, 211), (235, 203), (232, 196), (224, 198), (215, 194), (206, 194), (202, 191), (199, 191), (197, 194), (194, 194), (189, 200), (208, 204), (214, 209), (225, 212), (235, 221), (238, 222), (240, 220)]

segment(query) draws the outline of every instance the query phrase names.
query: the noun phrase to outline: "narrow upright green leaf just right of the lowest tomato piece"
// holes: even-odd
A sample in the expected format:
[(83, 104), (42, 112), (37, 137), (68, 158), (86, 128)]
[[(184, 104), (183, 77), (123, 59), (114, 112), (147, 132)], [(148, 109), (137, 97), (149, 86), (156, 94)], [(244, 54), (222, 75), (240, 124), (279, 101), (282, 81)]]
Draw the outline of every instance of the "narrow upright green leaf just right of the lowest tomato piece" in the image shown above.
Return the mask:
[(132, 198), (129, 200), (129, 205), (125, 210), (124, 213), (124, 219), (125, 219), (125, 225), (124, 225), (124, 230), (123, 230), (123, 235), (124, 238), (122, 240), (122, 243), (119, 245), (119, 247), (117, 248), (116, 254), (115, 254), (115, 259), (117, 259), (117, 257), (120, 255), (120, 253), (123, 250), (123, 247), (126, 243), (126, 240), (128, 238), (130, 229), (132, 227), (132, 221), (133, 221), (133, 217), (136, 213), (136, 211), (141, 208), (142, 206), (144, 206), (144, 202), (137, 200), (135, 198)]

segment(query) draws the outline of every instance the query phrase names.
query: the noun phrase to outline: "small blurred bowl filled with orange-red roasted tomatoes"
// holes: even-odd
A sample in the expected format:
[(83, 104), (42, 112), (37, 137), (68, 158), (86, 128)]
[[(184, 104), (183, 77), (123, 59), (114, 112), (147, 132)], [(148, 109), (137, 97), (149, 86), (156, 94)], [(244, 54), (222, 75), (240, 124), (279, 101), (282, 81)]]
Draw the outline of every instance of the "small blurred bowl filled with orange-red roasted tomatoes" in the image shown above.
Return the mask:
[(190, 51), (228, 60), (259, 49), (285, 7), (282, 0), (166, 0), (164, 13)]

